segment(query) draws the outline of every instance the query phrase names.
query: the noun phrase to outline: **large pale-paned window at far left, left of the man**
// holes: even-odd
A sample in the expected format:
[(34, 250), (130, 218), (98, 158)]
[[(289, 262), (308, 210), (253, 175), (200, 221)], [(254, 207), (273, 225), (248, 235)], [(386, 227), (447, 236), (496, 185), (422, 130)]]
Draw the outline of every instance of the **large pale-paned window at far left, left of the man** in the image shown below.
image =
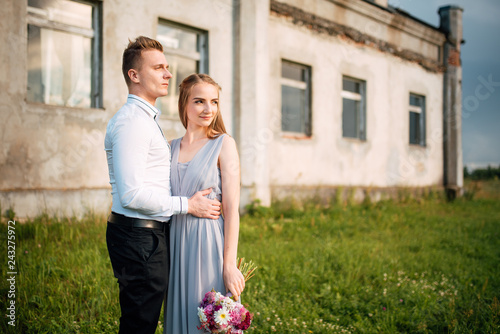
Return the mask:
[(29, 102), (100, 107), (99, 6), (28, 0)]

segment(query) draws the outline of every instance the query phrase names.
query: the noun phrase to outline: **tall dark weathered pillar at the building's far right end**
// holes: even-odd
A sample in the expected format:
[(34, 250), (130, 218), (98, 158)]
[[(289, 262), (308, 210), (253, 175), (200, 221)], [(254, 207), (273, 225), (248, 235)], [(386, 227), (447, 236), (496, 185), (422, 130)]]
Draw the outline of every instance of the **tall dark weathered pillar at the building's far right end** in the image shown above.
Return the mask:
[(439, 8), (440, 30), (446, 34), (443, 45), (443, 150), (444, 188), (448, 199), (454, 200), (463, 192), (462, 159), (462, 13), (458, 6)]

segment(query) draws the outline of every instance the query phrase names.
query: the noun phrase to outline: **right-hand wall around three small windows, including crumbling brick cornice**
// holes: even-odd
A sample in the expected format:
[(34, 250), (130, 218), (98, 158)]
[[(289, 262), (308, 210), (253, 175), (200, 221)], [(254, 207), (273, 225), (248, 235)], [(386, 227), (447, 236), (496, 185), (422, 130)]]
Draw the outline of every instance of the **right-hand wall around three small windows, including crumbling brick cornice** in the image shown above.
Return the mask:
[[(443, 34), (361, 1), (271, 1), (271, 10), (269, 155), (280, 162), (270, 168), (273, 196), (311, 187), (441, 187)], [(311, 138), (281, 134), (282, 59), (311, 67)], [(366, 81), (366, 141), (342, 136), (344, 75)], [(409, 144), (410, 93), (426, 98), (425, 147)]]

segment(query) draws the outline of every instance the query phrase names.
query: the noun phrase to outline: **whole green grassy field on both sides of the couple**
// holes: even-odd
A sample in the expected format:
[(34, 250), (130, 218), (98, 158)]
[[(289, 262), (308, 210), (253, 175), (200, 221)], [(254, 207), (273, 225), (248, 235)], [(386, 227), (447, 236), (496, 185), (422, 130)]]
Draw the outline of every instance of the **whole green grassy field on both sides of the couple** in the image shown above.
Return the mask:
[[(500, 183), (467, 186), (469, 199), (453, 203), (430, 194), (255, 206), (242, 217), (239, 247), (259, 265), (243, 294), (255, 314), (250, 333), (500, 333)], [(0, 332), (116, 332), (105, 228), (92, 215), (18, 223), (16, 327), (2, 316)]]

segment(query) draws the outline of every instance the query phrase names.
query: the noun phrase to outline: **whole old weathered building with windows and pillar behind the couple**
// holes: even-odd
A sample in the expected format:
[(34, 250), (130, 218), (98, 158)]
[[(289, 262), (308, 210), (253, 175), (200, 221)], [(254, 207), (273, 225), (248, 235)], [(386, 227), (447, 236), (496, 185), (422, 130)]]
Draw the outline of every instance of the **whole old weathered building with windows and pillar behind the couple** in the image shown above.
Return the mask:
[[(437, 10), (437, 9), (436, 9)], [(125, 102), (121, 56), (146, 35), (174, 78), (158, 101), (183, 134), (176, 86), (222, 86), (242, 205), (338, 187), (462, 187), (462, 9), (433, 27), (376, 0), (7, 0), (1, 9), (0, 201), (18, 216), (106, 213), (103, 140)]]

